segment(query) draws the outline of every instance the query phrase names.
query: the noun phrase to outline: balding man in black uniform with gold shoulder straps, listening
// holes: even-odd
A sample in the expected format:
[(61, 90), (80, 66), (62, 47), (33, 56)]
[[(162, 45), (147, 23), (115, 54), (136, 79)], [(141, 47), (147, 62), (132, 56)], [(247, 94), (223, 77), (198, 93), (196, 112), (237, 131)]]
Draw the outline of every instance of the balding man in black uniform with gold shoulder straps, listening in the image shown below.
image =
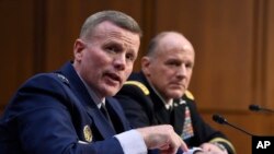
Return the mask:
[(233, 154), (232, 144), (199, 116), (187, 91), (194, 67), (194, 48), (178, 32), (162, 32), (117, 93), (129, 122), (137, 128), (169, 123), (189, 146), (205, 153)]

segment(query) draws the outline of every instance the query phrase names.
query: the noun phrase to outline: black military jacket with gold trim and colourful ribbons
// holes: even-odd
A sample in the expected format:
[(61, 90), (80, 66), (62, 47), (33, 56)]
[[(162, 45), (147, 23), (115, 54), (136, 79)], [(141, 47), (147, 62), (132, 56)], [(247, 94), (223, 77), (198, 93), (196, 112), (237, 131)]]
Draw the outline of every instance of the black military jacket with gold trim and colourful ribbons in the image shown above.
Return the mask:
[(227, 138), (202, 119), (190, 92), (181, 99), (175, 99), (173, 109), (169, 111), (140, 72), (133, 73), (115, 97), (133, 127), (172, 125), (190, 147), (199, 146), (204, 142), (219, 142), (229, 153), (233, 153)]

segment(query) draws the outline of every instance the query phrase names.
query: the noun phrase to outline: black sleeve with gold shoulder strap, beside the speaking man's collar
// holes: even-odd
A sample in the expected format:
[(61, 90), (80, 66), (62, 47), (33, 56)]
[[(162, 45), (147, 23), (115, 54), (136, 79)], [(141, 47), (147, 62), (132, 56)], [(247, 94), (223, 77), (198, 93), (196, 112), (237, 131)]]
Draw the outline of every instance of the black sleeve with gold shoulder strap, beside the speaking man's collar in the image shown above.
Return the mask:
[(151, 126), (152, 103), (139, 86), (125, 84), (115, 96), (134, 128)]

